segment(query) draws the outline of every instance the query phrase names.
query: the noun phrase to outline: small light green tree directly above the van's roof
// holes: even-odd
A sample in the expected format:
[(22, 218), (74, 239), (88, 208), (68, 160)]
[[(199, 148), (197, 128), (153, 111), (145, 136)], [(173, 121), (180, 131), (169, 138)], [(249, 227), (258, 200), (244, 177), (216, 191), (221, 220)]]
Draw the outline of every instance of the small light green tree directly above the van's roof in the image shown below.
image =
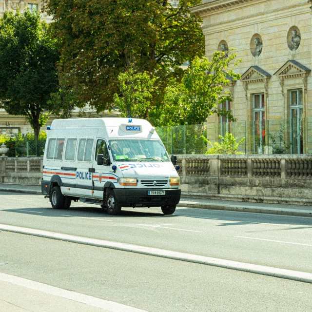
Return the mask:
[(148, 72), (135, 73), (133, 66), (118, 76), (120, 93), (114, 94), (114, 103), (123, 117), (147, 118), (146, 112), (151, 105), (151, 92), (154, 91), (156, 78)]

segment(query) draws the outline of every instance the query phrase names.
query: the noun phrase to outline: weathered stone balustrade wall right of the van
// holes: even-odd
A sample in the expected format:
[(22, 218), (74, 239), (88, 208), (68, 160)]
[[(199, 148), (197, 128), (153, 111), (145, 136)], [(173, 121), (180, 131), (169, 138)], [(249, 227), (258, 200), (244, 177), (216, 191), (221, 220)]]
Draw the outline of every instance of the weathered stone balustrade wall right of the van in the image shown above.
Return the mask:
[(182, 196), (312, 204), (311, 155), (179, 155)]

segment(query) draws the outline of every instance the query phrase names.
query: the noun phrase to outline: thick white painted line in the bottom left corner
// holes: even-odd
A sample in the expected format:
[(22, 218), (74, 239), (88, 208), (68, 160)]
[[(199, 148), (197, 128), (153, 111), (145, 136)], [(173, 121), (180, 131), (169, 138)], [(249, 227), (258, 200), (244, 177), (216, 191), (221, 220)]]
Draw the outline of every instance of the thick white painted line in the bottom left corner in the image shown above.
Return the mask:
[(73, 300), (76, 302), (84, 303), (92, 307), (97, 307), (105, 311), (110, 312), (146, 312), (137, 308), (129, 307), (117, 302), (108, 301), (92, 296), (88, 296), (79, 292), (71, 292), (58, 287), (50, 286), (47, 284), (42, 284), (39, 282), (32, 281), (30, 279), (21, 278), (14, 275), (8, 275), (5, 273), (0, 273), (0, 280), (19, 285), (21, 287), (29, 288), (38, 292), (44, 292), (53, 296), (62, 297), (65, 299)]

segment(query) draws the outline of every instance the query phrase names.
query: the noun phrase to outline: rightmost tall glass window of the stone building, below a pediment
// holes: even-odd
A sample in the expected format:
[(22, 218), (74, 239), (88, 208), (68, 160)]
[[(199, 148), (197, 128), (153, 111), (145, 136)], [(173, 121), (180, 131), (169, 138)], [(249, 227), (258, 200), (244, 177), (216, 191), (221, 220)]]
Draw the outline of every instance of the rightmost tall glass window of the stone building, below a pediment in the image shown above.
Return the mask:
[(290, 91), (290, 140), (291, 153), (303, 154), (302, 89)]

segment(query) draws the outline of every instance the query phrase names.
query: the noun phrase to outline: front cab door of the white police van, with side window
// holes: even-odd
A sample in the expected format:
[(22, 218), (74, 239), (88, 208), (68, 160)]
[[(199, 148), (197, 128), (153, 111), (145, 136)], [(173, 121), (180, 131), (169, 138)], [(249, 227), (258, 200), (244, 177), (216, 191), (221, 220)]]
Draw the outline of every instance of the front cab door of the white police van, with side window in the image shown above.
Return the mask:
[[(97, 159), (99, 154), (103, 155), (104, 157), (103, 165), (98, 165)], [(118, 182), (118, 177), (114, 174), (111, 163), (112, 160), (109, 156), (107, 141), (103, 138), (98, 138), (96, 143), (95, 157), (93, 159), (93, 168), (95, 169), (93, 174), (95, 198), (103, 199), (103, 187), (106, 182), (111, 182), (113, 184)]]

